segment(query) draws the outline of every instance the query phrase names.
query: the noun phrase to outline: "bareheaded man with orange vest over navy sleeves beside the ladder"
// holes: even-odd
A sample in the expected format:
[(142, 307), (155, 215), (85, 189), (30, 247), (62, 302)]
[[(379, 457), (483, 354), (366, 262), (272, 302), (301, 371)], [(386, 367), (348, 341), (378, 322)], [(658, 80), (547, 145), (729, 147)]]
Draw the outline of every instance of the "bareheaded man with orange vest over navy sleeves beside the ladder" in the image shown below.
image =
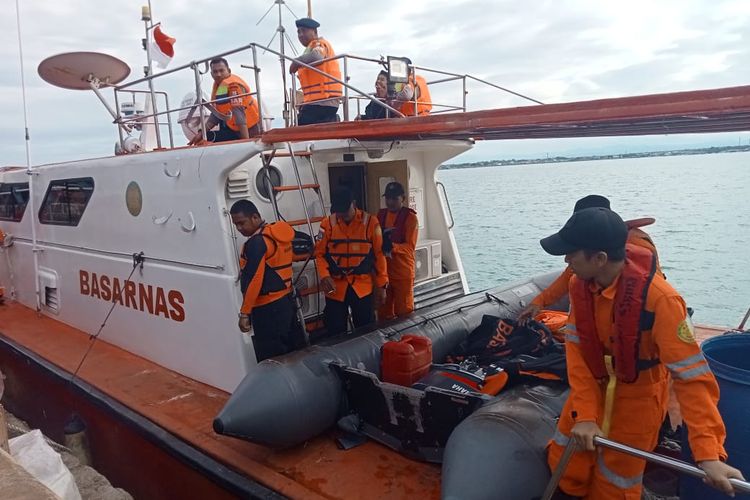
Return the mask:
[(292, 240), (286, 222), (266, 224), (255, 204), (239, 200), (230, 210), (232, 222), (248, 240), (240, 255), (243, 301), (239, 327), (250, 331), (258, 361), (295, 348), (300, 325), (292, 298)]

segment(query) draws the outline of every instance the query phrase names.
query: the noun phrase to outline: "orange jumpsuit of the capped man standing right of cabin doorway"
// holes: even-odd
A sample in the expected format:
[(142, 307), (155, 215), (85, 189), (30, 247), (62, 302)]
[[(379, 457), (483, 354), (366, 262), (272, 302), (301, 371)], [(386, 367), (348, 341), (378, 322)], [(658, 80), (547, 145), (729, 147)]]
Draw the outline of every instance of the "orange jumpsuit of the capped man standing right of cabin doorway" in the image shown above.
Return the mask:
[[(385, 226), (388, 229), (396, 225), (398, 212), (388, 211)], [(393, 243), (388, 262), (388, 289), (385, 303), (378, 309), (378, 319), (391, 319), (406, 316), (414, 310), (414, 252), (417, 246), (419, 221), (417, 215), (408, 211), (404, 223), (404, 242)]]

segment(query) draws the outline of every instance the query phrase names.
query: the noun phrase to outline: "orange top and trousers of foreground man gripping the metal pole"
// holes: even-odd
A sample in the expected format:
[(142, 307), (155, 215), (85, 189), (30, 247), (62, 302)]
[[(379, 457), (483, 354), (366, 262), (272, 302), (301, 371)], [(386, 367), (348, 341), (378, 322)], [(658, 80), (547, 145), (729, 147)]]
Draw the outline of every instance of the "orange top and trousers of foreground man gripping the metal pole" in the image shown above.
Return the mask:
[[(571, 287), (577, 279), (572, 278)], [(613, 306), (619, 279), (603, 290), (593, 283), (589, 285), (596, 329), (605, 350), (610, 349), (609, 339), (614, 335)], [(685, 302), (658, 273), (648, 289), (646, 310), (655, 314), (654, 324), (651, 330), (642, 333), (639, 358), (659, 358), (660, 363), (641, 371), (632, 384), (617, 381), (608, 437), (636, 448), (653, 450), (667, 411), (671, 376), (690, 429), (690, 447), (695, 460), (726, 459), (723, 446), (726, 432), (716, 408), (719, 387), (695, 341)], [(596, 422), (601, 428), (604, 419), (606, 380), (595, 379), (589, 371), (579, 347), (572, 312), (565, 338), (570, 396), (549, 443), (548, 461), (552, 469), (560, 460), (573, 425)], [(639, 500), (644, 468), (643, 460), (608, 449), (575, 452), (560, 481), (560, 489), (569, 495), (596, 500)]]

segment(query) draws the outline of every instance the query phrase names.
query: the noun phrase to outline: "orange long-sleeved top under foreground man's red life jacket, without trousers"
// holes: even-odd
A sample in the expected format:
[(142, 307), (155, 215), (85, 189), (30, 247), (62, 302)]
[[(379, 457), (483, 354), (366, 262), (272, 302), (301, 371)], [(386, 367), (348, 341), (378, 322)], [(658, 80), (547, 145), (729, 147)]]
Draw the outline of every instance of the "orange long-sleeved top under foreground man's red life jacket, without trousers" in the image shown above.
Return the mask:
[[(573, 277), (571, 286), (578, 278)], [(590, 285), (594, 297), (594, 316), (599, 339), (609, 351), (614, 333), (613, 306), (619, 277), (605, 289)], [(653, 311), (652, 330), (643, 332), (639, 348), (640, 359), (659, 358), (657, 366), (641, 371), (632, 384), (618, 382), (615, 402), (627, 404), (633, 398), (654, 398), (663, 404), (666, 412), (669, 376), (674, 381), (674, 391), (683, 418), (690, 429), (690, 448), (695, 460), (725, 459), (726, 431), (716, 404), (719, 386), (706, 359), (693, 336), (692, 323), (687, 315), (682, 297), (660, 275), (655, 275), (646, 297), (646, 309)], [(576, 331), (574, 309), (565, 327), (565, 351), (570, 382), (571, 408), (576, 422), (598, 422), (604, 413), (605, 384), (596, 380), (586, 365), (580, 350)], [(609, 351), (608, 353), (611, 353)], [(632, 425), (637, 431), (638, 416), (633, 415)]]

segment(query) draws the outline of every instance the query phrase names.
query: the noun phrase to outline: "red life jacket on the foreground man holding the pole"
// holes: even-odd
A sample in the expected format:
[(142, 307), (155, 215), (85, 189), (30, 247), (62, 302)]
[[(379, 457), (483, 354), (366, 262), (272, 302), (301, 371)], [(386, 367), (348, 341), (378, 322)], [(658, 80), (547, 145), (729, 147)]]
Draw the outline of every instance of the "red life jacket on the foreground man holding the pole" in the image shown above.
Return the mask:
[[(616, 335), (612, 339), (612, 354), (617, 380), (632, 383), (638, 373), (659, 363), (659, 359), (639, 359), (641, 334), (651, 330), (653, 311), (645, 308), (646, 294), (656, 273), (656, 257), (645, 248), (627, 244), (625, 266), (617, 285), (614, 305)], [(604, 345), (599, 339), (594, 316), (594, 297), (589, 281), (576, 280), (571, 285), (571, 296), (576, 318), (576, 330), (586, 365), (594, 378), (607, 377)]]

